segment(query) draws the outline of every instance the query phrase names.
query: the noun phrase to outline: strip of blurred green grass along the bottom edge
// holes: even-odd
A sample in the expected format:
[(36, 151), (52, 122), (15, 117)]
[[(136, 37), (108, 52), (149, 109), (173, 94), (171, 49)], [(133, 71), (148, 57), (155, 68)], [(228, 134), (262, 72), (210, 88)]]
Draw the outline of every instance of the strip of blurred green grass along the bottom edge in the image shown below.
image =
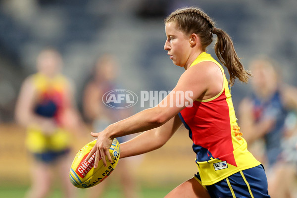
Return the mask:
[[(174, 187), (164, 187), (164, 188), (142, 188), (141, 198), (163, 198), (168, 192), (170, 192)], [(28, 187), (0, 187), (0, 197), (1, 198), (23, 198)], [(83, 197), (84, 190), (78, 189), (78, 198)], [(49, 196), (49, 198), (63, 198), (59, 189), (54, 189)], [(122, 198), (121, 191), (119, 188), (109, 188), (108, 192), (100, 198)]]

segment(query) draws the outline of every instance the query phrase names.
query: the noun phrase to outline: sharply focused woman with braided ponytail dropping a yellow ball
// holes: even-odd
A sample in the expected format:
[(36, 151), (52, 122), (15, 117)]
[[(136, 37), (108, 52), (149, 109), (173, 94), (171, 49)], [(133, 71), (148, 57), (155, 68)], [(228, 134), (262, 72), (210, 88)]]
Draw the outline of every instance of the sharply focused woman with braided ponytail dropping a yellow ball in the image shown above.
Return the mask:
[[(184, 124), (194, 143), (198, 173), (166, 198), (269, 198), (263, 166), (247, 150), (235, 117), (229, 86), (235, 79), (246, 83), (249, 73), (230, 37), (196, 7), (172, 12), (165, 19), (165, 31), (164, 49), (185, 72), (155, 107), (92, 133), (98, 141), (88, 157), (96, 152), (95, 166), (100, 158), (106, 163), (105, 155), (111, 160), (113, 138), (142, 131), (121, 144), (122, 158), (160, 148)], [(206, 53), (213, 35), (216, 55), (230, 74), (229, 84), (220, 63)]]

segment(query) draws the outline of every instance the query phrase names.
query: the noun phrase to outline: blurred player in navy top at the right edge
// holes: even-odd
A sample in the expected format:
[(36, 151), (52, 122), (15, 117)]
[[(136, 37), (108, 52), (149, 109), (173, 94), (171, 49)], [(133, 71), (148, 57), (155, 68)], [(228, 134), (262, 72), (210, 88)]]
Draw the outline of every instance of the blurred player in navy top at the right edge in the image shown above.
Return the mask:
[(293, 198), (296, 142), (284, 144), (285, 147), (282, 143), (292, 142), (292, 137), (296, 136), (295, 121), (286, 120), (290, 112), (297, 111), (297, 89), (282, 82), (280, 68), (268, 58), (253, 60), (250, 69), (254, 75), (251, 81), (253, 92), (240, 104), (241, 130), (254, 155), (267, 167), (271, 197)]

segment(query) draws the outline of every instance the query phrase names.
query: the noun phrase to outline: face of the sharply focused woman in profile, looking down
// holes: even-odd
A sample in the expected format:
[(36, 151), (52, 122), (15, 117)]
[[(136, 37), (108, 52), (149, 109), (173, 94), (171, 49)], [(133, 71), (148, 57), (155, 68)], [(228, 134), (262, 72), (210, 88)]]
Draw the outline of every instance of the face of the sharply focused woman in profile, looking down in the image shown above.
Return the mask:
[(167, 39), (164, 49), (175, 65), (186, 66), (191, 50), (190, 37), (178, 30), (175, 22), (166, 23), (165, 31)]

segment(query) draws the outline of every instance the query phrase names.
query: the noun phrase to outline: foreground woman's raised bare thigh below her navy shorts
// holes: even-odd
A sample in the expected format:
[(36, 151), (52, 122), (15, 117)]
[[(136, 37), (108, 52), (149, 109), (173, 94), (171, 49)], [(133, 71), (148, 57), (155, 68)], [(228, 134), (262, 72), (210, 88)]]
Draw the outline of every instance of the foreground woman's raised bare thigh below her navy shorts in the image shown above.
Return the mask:
[(165, 198), (210, 198), (208, 192), (194, 178), (173, 189)]

